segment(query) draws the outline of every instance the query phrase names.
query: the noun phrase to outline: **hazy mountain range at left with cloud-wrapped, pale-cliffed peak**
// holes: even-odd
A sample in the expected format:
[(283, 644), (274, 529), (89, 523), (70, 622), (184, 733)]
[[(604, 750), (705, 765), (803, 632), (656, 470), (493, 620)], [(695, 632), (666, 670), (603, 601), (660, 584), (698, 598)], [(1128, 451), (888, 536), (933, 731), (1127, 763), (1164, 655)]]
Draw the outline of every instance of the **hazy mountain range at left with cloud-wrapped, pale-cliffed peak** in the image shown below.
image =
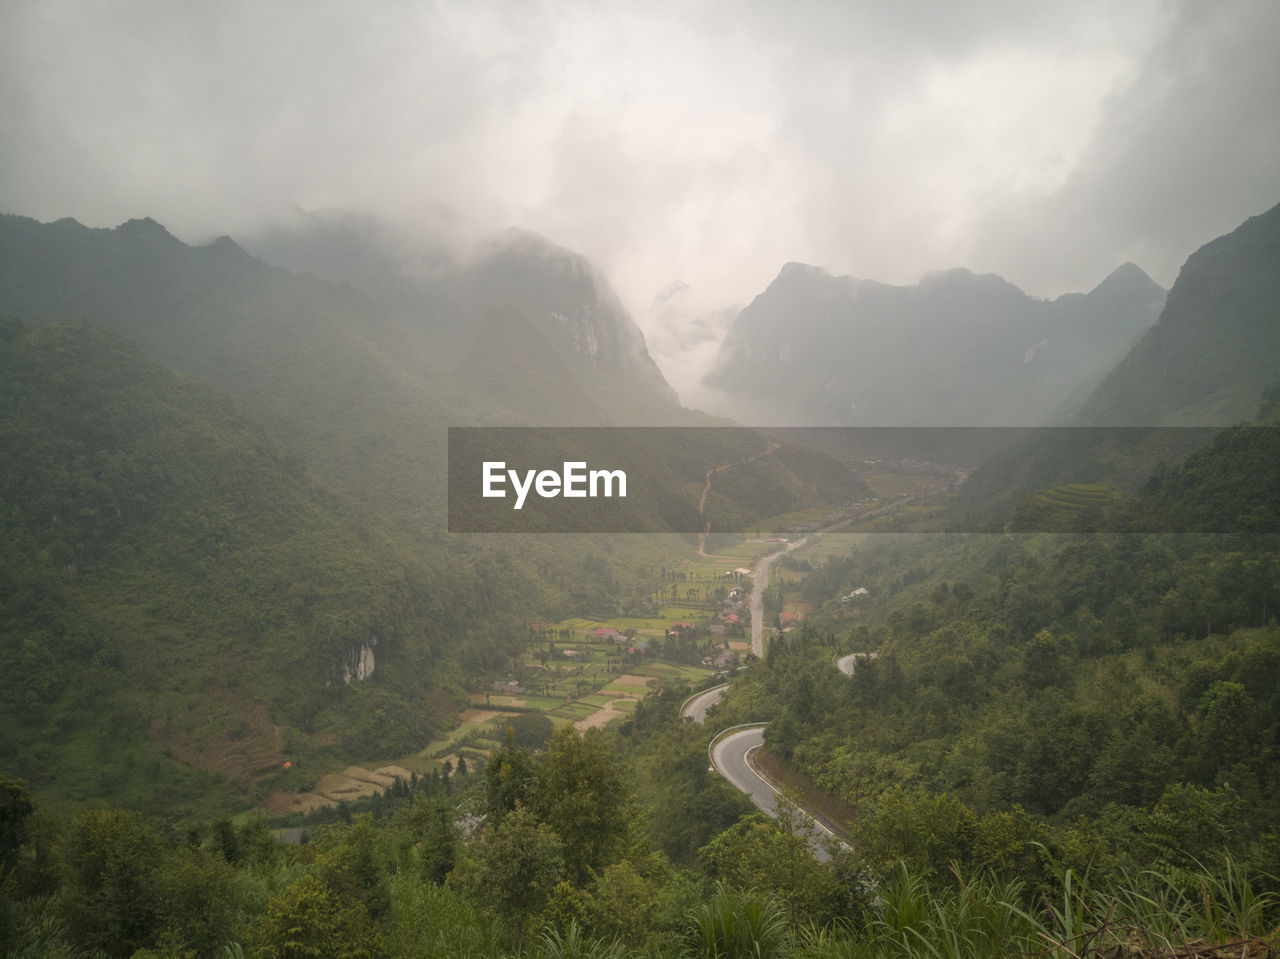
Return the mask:
[(590, 264), (549, 241), (508, 234), (466, 261), (406, 254), (367, 223), (294, 241), (294, 268), (348, 268), (293, 273), (146, 219), (0, 216), (0, 314), (123, 334), (225, 389), (325, 481), (436, 526), (449, 424), (708, 421)]

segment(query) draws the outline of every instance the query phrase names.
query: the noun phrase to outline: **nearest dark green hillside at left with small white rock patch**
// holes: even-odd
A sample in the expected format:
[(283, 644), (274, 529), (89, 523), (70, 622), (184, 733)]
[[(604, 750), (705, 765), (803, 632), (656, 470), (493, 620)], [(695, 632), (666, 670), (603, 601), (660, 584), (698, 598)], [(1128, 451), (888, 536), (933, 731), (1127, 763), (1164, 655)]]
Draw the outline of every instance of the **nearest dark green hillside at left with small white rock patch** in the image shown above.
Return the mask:
[(3, 321), (0, 382), (0, 764), (42, 794), (172, 816), (412, 749), (456, 713), (463, 638), (534, 607), (99, 326)]

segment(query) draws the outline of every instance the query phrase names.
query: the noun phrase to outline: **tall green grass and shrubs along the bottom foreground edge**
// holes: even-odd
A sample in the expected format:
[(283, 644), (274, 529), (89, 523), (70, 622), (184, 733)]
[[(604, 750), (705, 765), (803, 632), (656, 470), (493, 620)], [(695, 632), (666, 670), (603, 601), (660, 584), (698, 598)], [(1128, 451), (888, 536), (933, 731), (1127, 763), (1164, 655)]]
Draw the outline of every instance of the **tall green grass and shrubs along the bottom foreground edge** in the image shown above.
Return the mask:
[[(577, 923), (532, 944), (454, 890), (392, 878), (394, 955), (627, 959), (658, 955)], [(1066, 871), (1052, 895), (979, 872), (931, 886), (901, 868), (860, 922), (788, 927), (769, 898), (717, 886), (687, 914), (664, 959), (1262, 959), (1280, 942), (1280, 900), (1233, 862), (1213, 871), (1121, 873), (1094, 882)]]

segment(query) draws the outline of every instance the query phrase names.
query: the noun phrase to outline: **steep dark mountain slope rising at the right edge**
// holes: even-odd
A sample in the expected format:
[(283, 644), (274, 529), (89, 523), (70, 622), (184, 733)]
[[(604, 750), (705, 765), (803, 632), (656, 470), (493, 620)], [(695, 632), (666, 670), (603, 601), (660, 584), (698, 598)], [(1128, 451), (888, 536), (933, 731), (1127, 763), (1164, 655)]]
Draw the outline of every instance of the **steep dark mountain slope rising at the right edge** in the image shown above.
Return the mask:
[(965, 525), (1004, 522), (1027, 494), (1061, 484), (1135, 492), (1217, 428), (1252, 419), (1280, 382), (1277, 262), (1280, 206), (1192, 254), (1160, 320), (1074, 412), (1083, 429), (1034, 435), (977, 470), (956, 503)]

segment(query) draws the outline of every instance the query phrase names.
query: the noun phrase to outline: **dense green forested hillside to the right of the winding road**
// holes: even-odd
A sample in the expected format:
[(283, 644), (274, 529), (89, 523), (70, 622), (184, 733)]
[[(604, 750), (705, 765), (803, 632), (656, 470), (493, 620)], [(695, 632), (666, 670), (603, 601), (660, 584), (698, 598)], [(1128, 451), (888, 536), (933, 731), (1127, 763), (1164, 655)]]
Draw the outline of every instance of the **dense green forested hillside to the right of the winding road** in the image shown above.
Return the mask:
[[(1254, 531), (1280, 503), (1272, 421), (1228, 430), (1115, 519), (1184, 533), (955, 536), (833, 562), (815, 602), (859, 585), (877, 599), (851, 621), (828, 603), (733, 697), (755, 697), (769, 748), (886, 862), (978, 866), (966, 830), (1012, 814), (1024, 839), (1070, 834), (1098, 862), (1229, 851), (1276, 869), (1280, 539)], [(877, 657), (837, 673), (854, 649)], [(920, 823), (934, 846), (868, 839), (941, 814), (940, 796), (959, 818)]]

